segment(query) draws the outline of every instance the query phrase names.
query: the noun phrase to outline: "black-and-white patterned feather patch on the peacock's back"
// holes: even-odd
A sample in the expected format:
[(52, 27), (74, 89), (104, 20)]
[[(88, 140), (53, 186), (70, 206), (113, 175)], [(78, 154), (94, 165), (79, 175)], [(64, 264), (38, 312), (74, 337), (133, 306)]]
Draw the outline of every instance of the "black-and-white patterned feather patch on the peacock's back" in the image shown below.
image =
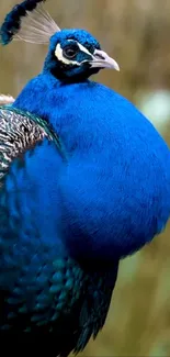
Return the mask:
[(44, 137), (54, 141), (59, 152), (63, 152), (58, 135), (46, 121), (10, 105), (0, 107), (0, 183), (11, 161)]

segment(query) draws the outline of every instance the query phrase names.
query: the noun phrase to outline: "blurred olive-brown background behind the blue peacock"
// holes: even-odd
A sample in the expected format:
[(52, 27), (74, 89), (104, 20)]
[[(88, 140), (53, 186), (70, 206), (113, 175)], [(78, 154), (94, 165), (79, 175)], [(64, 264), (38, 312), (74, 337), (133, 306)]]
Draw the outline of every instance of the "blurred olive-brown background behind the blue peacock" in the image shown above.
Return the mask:
[[(1, 0), (0, 22), (16, 2)], [(170, 1), (48, 0), (60, 27), (91, 32), (121, 67), (94, 80), (135, 103), (170, 145)], [(41, 70), (47, 48), (11, 43), (0, 47), (0, 93), (15, 97)], [(121, 264), (103, 331), (81, 357), (170, 356), (170, 224)]]

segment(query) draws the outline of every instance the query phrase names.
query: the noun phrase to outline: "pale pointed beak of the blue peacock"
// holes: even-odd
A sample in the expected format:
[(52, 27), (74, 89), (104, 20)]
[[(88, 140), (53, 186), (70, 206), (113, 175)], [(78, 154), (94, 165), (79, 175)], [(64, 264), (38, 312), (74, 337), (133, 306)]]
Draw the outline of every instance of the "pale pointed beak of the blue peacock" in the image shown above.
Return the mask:
[(104, 51), (95, 49), (93, 59), (90, 62), (92, 68), (112, 68), (120, 70), (118, 64), (111, 58)]

